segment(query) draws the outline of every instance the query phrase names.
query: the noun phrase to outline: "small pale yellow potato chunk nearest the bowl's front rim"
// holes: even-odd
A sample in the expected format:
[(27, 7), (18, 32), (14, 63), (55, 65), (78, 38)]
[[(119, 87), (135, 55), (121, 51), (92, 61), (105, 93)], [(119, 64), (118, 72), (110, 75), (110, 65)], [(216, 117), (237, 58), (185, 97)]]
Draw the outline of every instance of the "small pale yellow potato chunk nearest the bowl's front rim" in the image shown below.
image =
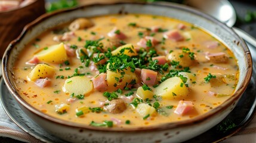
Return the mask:
[(146, 103), (138, 104), (135, 110), (137, 111), (138, 114), (140, 114), (141, 117), (145, 117), (148, 114), (149, 115), (156, 114), (156, 109)]

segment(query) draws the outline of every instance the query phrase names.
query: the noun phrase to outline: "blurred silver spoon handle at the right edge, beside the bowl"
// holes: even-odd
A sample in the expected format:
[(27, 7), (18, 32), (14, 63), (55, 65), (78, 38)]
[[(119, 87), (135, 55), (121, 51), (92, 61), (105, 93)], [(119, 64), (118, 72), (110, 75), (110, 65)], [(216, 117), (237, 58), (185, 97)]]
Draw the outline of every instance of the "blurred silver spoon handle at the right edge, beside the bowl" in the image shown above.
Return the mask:
[(242, 29), (236, 27), (232, 27), (232, 29), (246, 42), (251, 52), (252, 60), (256, 63), (256, 39)]

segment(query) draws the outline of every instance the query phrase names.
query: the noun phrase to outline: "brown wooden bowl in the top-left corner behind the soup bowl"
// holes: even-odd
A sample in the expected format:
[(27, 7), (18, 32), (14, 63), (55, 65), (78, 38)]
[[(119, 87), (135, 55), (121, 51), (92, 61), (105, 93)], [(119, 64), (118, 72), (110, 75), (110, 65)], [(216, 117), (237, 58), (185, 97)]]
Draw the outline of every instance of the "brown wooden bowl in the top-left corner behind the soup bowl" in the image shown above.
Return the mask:
[(24, 7), (0, 12), (0, 58), (9, 43), (20, 35), (23, 27), (44, 13), (44, 0), (36, 0)]

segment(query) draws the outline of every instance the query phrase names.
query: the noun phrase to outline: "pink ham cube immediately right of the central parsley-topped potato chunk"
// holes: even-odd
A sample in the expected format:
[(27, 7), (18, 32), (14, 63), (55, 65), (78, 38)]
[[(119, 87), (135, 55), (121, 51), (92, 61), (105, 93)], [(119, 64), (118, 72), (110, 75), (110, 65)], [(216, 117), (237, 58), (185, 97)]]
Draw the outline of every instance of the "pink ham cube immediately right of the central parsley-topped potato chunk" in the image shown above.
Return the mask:
[(146, 85), (155, 85), (158, 72), (148, 69), (141, 70), (141, 80)]

